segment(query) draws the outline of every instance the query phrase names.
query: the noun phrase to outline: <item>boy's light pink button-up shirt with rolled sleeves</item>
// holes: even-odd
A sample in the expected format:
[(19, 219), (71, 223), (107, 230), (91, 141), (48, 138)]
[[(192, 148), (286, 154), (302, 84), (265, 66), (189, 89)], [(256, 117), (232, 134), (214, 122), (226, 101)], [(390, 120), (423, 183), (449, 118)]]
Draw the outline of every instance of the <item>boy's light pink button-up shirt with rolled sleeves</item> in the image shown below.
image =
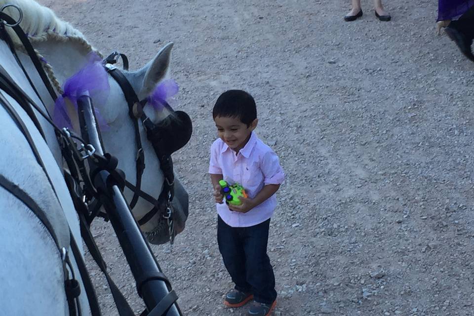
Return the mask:
[[(227, 183), (242, 185), (250, 198), (255, 197), (265, 185), (281, 184), (285, 177), (275, 152), (254, 132), (237, 155), (218, 138), (211, 146), (209, 173), (222, 174)], [(276, 207), (276, 195), (247, 213), (231, 211), (226, 203), (216, 205), (217, 213), (227, 225), (249, 227), (272, 217)]]

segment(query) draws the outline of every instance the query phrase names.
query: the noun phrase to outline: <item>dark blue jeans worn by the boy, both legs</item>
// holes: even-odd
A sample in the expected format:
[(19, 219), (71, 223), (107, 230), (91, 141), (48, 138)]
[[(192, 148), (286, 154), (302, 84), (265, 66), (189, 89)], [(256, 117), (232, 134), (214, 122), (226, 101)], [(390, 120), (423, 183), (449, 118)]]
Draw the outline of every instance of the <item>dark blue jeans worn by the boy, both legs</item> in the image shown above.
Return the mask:
[(276, 299), (275, 275), (267, 255), (270, 219), (250, 227), (231, 227), (217, 216), (217, 243), (236, 289), (259, 303)]

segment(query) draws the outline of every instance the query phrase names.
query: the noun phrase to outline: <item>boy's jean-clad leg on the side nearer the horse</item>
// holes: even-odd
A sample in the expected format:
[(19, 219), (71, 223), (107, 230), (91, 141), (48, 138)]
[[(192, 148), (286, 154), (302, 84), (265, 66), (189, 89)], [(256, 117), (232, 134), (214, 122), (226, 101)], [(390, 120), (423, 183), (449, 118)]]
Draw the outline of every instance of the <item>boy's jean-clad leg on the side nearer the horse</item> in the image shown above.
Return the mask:
[(248, 293), (251, 291), (251, 286), (246, 280), (245, 253), (239, 237), (240, 229), (227, 225), (218, 216), (217, 243), (224, 265), (232, 277), (232, 281), (236, 284), (236, 289)]

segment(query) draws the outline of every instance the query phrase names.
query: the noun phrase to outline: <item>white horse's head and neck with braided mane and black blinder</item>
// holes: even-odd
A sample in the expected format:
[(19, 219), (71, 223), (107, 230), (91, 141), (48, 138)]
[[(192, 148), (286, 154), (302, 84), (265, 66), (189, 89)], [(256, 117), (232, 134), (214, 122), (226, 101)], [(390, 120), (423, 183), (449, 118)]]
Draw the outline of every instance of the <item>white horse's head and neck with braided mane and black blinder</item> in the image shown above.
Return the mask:
[[(20, 26), (28, 33), (29, 40), (59, 95), (64, 93), (65, 82), (87, 64), (91, 52), (103, 57), (78, 30), (57, 18), (50, 9), (34, 1), (8, 0), (7, 2), (21, 8), (23, 20)], [(12, 16), (18, 15), (15, 8), (7, 8), (6, 11)], [(14, 41), (16, 40), (14, 34), (12, 34), (12, 38)], [(169, 72), (172, 46), (172, 43), (165, 45), (152, 60), (137, 71), (120, 70), (138, 100), (152, 99), (157, 85), (165, 80)], [(32, 79), (40, 87), (39, 90), (44, 89), (39, 78), (33, 77)], [(150, 199), (146, 200), (143, 197), (149, 196), (154, 197), (155, 201), (159, 200), (158, 197), (167, 184), (162, 171), (163, 161), (158, 158), (156, 153), (166, 152), (166, 156), (168, 156), (184, 146), (190, 137), (191, 121), (187, 115), (174, 112), (168, 107), (156, 110), (152, 106), (145, 105), (146, 102), (141, 102), (142, 108), (140, 110), (153, 123), (153, 126), (157, 127), (154, 131), (160, 135), (150, 135), (150, 130), (147, 130), (141, 121), (138, 121), (137, 130), (133, 118), (130, 116), (130, 105), (126, 95), (128, 92), (124, 92), (123, 87), (112, 76), (108, 76), (107, 81), (110, 91), (106, 101), (97, 102), (94, 98), (92, 99), (94, 106), (99, 109), (100, 115), (107, 125), (107, 128), (101, 128), (104, 149), (118, 158), (118, 168), (125, 172), (127, 181), (135, 185), (139, 179), (137, 171), (137, 138), (139, 138), (144, 153), (143, 162), (146, 166), (140, 188), (144, 194), (140, 195), (132, 212), (150, 242), (166, 242), (169, 232), (163, 214), (159, 211), (151, 212), (150, 210), (157, 208), (158, 205), (152, 205)], [(52, 102), (47, 105), (47, 108), (50, 113), (54, 112)], [(77, 125), (77, 112), (70, 103), (67, 103), (67, 112), (72, 125)], [(137, 136), (137, 132), (139, 136)], [(160, 138), (159, 146), (161, 148), (159, 150), (157, 150), (157, 143), (152, 144), (149, 141), (150, 137), (146, 137), (147, 132), (148, 136), (152, 138), (154, 136)], [(56, 152), (56, 157), (60, 157), (57, 149), (52, 148), (52, 151)], [(62, 163), (61, 158), (57, 158), (57, 161)], [(174, 180), (174, 197), (171, 200), (171, 208), (174, 210), (173, 220), (176, 233), (179, 233), (184, 229), (188, 216), (188, 195), (180, 182), (177, 179)], [(126, 188), (124, 195), (130, 203), (135, 193)], [(146, 221), (143, 221), (144, 217), (147, 217)]]

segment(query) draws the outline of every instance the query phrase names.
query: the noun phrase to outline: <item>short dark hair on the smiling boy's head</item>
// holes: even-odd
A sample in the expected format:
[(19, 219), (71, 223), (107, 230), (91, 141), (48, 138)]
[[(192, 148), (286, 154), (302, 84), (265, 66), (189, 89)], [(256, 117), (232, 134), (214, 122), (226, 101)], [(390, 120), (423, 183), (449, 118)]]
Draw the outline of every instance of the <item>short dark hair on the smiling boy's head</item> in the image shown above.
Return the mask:
[(257, 107), (253, 97), (242, 90), (222, 93), (212, 109), (212, 118), (239, 118), (247, 127), (257, 118)]

